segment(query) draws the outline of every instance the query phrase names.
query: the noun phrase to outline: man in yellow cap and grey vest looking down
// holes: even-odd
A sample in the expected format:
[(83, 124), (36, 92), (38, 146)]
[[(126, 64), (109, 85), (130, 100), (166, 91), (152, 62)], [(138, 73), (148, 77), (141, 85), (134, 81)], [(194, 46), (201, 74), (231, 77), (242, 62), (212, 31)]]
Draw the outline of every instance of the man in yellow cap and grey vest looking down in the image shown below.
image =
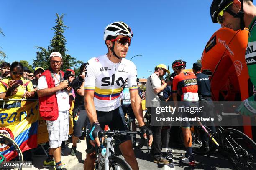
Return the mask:
[[(157, 94), (162, 92), (167, 86), (164, 82), (161, 85), (160, 77), (163, 77), (165, 73), (170, 71), (167, 69), (166, 65), (159, 64), (155, 67), (155, 72), (148, 77), (146, 84), (146, 107), (151, 115), (156, 114), (156, 107), (160, 107), (160, 99)], [(160, 122), (159, 122), (160, 123)], [(162, 155), (162, 141), (161, 141), (161, 130), (162, 125), (151, 126), (153, 132), (153, 144), (152, 144), (152, 154), (154, 155), (155, 163), (169, 164), (170, 161), (163, 157)]]

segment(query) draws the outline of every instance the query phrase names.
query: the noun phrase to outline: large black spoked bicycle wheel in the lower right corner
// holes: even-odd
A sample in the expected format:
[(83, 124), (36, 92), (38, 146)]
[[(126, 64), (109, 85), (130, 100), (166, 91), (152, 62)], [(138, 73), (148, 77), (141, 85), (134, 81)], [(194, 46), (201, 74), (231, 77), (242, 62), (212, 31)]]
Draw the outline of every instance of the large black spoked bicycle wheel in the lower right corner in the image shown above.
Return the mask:
[(225, 129), (222, 145), (238, 170), (256, 170), (256, 143), (247, 135), (236, 129)]

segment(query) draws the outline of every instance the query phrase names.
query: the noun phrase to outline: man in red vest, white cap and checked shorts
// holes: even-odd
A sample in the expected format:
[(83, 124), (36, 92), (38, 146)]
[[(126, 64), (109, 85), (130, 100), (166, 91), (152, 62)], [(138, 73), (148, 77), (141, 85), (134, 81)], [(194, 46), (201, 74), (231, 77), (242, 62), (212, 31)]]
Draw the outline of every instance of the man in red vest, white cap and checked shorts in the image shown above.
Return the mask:
[(57, 170), (66, 170), (61, 163), (61, 143), (69, 135), (69, 92), (67, 80), (63, 80), (64, 72), (60, 71), (62, 56), (52, 52), (49, 56), (50, 68), (38, 79), (37, 94), (39, 97), (39, 113), (46, 120), (49, 133), (49, 156), (43, 167), (55, 165)]

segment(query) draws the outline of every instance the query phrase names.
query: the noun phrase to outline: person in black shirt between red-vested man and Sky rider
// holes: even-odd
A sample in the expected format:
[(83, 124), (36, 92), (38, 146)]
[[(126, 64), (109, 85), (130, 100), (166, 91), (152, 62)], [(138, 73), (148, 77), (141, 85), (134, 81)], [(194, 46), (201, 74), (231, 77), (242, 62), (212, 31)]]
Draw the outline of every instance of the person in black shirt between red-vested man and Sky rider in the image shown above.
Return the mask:
[(87, 123), (90, 121), (87, 118), (87, 112), (84, 107), (84, 79), (85, 79), (85, 66), (86, 63), (83, 63), (80, 67), (80, 75), (79, 77), (75, 78), (73, 80), (73, 85), (77, 85), (74, 88), (75, 92), (75, 103), (74, 103), (74, 109), (72, 111), (73, 113), (73, 135), (72, 135), (72, 148), (70, 151), (70, 155), (75, 156), (77, 152), (77, 141), (79, 137), (82, 136), (83, 128), (84, 130), (88, 129), (89, 127), (86, 127)]

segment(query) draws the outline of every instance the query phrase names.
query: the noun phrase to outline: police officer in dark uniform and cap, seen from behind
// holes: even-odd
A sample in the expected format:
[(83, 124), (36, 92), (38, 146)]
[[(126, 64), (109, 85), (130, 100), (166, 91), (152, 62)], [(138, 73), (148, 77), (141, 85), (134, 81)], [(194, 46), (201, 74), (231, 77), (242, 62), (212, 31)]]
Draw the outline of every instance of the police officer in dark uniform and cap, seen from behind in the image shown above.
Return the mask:
[[(207, 103), (208, 105), (208, 110), (204, 112), (204, 116), (211, 116), (213, 117), (213, 102), (212, 102), (212, 97), (211, 97), (211, 85), (210, 85), (210, 79), (208, 75), (205, 75), (201, 73), (202, 65), (201, 63), (194, 63), (193, 64), (193, 72), (195, 73), (195, 76), (197, 77), (197, 85), (198, 85), (198, 96), (199, 96), (199, 101), (200, 103)], [(210, 123), (210, 126), (209, 126)], [(216, 128), (214, 126), (213, 122), (207, 122), (207, 127), (212, 130), (212, 132), (216, 132)], [(198, 152), (204, 153), (208, 152), (209, 149), (209, 138), (206, 135), (206, 133), (201, 132), (202, 134), (202, 146), (200, 148), (195, 148)]]

